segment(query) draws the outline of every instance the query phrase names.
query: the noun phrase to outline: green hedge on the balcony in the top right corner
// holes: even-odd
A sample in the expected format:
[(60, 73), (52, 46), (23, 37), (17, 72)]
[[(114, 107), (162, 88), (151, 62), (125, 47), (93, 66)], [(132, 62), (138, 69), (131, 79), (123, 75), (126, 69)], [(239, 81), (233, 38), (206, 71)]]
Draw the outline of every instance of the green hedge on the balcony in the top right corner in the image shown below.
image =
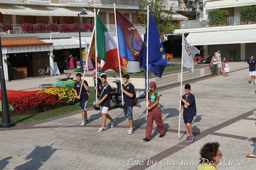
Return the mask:
[(239, 13), (242, 22), (256, 21), (256, 6), (241, 8)]

